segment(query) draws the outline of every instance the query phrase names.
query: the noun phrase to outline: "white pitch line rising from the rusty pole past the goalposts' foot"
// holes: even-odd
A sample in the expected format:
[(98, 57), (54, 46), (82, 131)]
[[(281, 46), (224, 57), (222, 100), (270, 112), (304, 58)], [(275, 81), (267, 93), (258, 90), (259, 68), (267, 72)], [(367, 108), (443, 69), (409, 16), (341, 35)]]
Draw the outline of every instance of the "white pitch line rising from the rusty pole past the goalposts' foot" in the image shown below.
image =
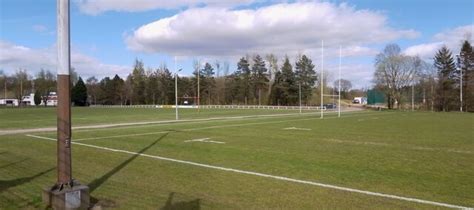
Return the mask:
[[(371, 115), (388, 115), (391, 113), (374, 113), (374, 114), (364, 114), (362, 116), (371, 116)], [(345, 115), (342, 117), (326, 117), (325, 119), (336, 119), (336, 118), (346, 118), (346, 117), (360, 117), (361, 115)], [(179, 130), (181, 132), (187, 131), (197, 131), (197, 130), (206, 130), (206, 129), (214, 129), (214, 128), (229, 128), (229, 127), (240, 127), (240, 126), (249, 126), (249, 125), (265, 125), (265, 124), (277, 124), (277, 123), (285, 123), (285, 122), (294, 122), (294, 121), (306, 121), (306, 120), (320, 120), (319, 118), (303, 118), (303, 119), (292, 119), (292, 120), (279, 120), (279, 121), (271, 121), (271, 122), (254, 122), (254, 123), (240, 123), (240, 124), (232, 124), (232, 125), (214, 125), (208, 127), (200, 127), (200, 128), (189, 128)], [(138, 134), (124, 134), (124, 135), (114, 135), (114, 136), (105, 136), (105, 137), (93, 137), (93, 138), (83, 138), (83, 139), (73, 139), (73, 141), (84, 141), (84, 140), (99, 140), (99, 139), (112, 139), (112, 138), (122, 138), (122, 137), (129, 137), (129, 136), (146, 136), (146, 135), (153, 135), (159, 133), (168, 133), (172, 131), (159, 131), (159, 132), (151, 132), (151, 133), (138, 133)]]

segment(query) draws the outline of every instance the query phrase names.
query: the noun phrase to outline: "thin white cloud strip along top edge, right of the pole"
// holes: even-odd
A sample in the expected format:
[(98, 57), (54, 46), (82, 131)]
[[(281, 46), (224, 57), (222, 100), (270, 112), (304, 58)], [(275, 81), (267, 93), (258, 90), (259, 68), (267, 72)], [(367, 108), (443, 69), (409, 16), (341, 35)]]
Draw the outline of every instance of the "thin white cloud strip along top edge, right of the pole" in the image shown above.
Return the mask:
[(76, 3), (83, 13), (97, 15), (107, 11), (141, 12), (154, 9), (176, 9), (198, 5), (246, 5), (254, 1), (255, 0), (76, 0)]

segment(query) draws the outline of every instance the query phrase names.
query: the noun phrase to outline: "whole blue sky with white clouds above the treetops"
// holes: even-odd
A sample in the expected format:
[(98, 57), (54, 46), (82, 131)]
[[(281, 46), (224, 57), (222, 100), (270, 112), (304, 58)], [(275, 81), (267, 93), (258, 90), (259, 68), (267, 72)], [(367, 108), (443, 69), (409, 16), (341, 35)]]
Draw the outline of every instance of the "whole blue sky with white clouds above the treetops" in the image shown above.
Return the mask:
[[(177, 55), (190, 74), (194, 59), (228, 61), (232, 71), (245, 54), (304, 53), (318, 70), (324, 39), (325, 70), (334, 72), (343, 45), (344, 77), (369, 87), (386, 44), (427, 60), (443, 44), (457, 51), (473, 11), (472, 0), (71, 0), (72, 65), (83, 77), (125, 76), (135, 58), (173, 68)], [(55, 71), (55, 15), (55, 0), (1, 0), (0, 69)]]

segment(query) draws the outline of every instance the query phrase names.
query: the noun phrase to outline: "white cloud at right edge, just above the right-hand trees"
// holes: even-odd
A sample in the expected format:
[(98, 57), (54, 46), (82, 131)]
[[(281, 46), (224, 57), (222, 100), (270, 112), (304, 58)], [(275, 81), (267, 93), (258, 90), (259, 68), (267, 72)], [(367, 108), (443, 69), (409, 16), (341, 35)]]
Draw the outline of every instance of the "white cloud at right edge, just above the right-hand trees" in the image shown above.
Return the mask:
[(433, 42), (414, 45), (404, 50), (404, 53), (412, 56), (420, 56), (423, 59), (432, 59), (436, 52), (446, 45), (456, 54), (461, 49), (461, 44), (464, 40), (470, 40), (474, 43), (472, 35), (474, 33), (474, 25), (460, 26), (454, 29), (449, 29), (444, 32), (434, 35)]

